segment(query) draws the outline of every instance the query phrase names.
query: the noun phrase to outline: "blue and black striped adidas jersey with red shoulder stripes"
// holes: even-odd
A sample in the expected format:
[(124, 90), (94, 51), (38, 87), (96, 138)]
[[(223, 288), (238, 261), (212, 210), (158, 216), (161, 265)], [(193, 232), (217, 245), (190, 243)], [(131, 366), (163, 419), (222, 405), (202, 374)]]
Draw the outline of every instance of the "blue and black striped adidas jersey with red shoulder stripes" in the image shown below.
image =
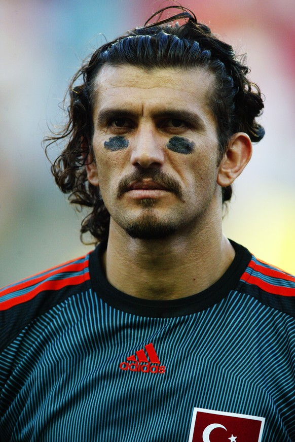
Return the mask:
[[(232, 244), (181, 299), (114, 288), (104, 244), (2, 289), (1, 442), (294, 442), (295, 278)], [(196, 408), (263, 418), (262, 437), (215, 417), (198, 436)]]

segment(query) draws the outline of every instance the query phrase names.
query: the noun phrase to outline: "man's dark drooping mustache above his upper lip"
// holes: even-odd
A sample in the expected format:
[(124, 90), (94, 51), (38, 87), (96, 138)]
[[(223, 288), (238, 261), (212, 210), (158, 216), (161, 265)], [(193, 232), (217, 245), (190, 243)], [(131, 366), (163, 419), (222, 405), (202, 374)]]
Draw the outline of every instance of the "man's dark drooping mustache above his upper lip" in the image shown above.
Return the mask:
[(122, 178), (118, 184), (117, 197), (120, 198), (123, 193), (128, 191), (128, 187), (134, 181), (142, 181), (144, 178), (150, 178), (155, 183), (165, 186), (167, 190), (173, 192), (180, 200), (183, 201), (182, 190), (180, 184), (170, 175), (160, 171), (160, 169), (137, 170), (129, 176)]

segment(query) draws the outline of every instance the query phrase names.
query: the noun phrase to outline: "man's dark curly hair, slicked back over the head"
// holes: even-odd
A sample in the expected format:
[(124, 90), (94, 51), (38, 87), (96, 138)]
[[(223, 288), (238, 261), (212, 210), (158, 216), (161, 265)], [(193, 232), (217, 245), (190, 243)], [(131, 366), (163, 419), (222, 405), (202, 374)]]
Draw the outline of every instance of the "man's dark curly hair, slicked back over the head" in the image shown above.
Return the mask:
[[(180, 12), (160, 20), (163, 11), (170, 8)], [(148, 24), (157, 15), (160, 15), (158, 21)], [(184, 19), (185, 24), (179, 25), (176, 22), (179, 19)], [(209, 104), (217, 121), (221, 161), (234, 133), (246, 132), (252, 142), (260, 141), (265, 133), (256, 121), (264, 107), (262, 95), (259, 87), (248, 80), (249, 68), (243, 63), (230, 45), (220, 41), (208, 26), (197, 21), (192, 11), (170, 6), (153, 14), (143, 27), (134, 28), (104, 44), (82, 64), (70, 81), (65, 96), (66, 100), (69, 95), (67, 122), (60, 132), (45, 139), (46, 152), (52, 143), (65, 142), (61, 155), (51, 166), (60, 190), (69, 194), (73, 205), (92, 208), (82, 221), (82, 241), (86, 232), (94, 237), (93, 244), (105, 240), (109, 228), (109, 213), (99, 188), (88, 182), (85, 167), (88, 154), (92, 152), (94, 81), (101, 67), (104, 64), (130, 64), (145, 70), (201, 67), (213, 74)], [(77, 85), (77, 80), (81, 84)], [(222, 190), (224, 203), (231, 199), (232, 186)]]

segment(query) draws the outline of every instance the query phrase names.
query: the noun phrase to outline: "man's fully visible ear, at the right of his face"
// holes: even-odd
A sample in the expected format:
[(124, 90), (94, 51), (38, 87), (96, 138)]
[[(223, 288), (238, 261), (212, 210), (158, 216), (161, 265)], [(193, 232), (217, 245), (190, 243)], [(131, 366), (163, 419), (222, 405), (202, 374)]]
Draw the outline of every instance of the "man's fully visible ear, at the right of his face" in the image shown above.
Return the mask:
[(219, 164), (217, 184), (227, 187), (243, 172), (252, 155), (252, 143), (244, 132), (234, 133)]

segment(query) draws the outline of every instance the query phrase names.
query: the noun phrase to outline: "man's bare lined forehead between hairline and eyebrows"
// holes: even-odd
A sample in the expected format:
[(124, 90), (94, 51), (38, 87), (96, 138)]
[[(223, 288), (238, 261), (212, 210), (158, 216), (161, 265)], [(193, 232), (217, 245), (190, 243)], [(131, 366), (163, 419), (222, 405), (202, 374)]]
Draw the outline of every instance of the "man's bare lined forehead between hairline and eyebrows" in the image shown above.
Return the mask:
[(187, 108), (211, 113), (211, 73), (200, 69), (105, 65), (94, 81), (94, 110), (112, 105), (142, 109)]

